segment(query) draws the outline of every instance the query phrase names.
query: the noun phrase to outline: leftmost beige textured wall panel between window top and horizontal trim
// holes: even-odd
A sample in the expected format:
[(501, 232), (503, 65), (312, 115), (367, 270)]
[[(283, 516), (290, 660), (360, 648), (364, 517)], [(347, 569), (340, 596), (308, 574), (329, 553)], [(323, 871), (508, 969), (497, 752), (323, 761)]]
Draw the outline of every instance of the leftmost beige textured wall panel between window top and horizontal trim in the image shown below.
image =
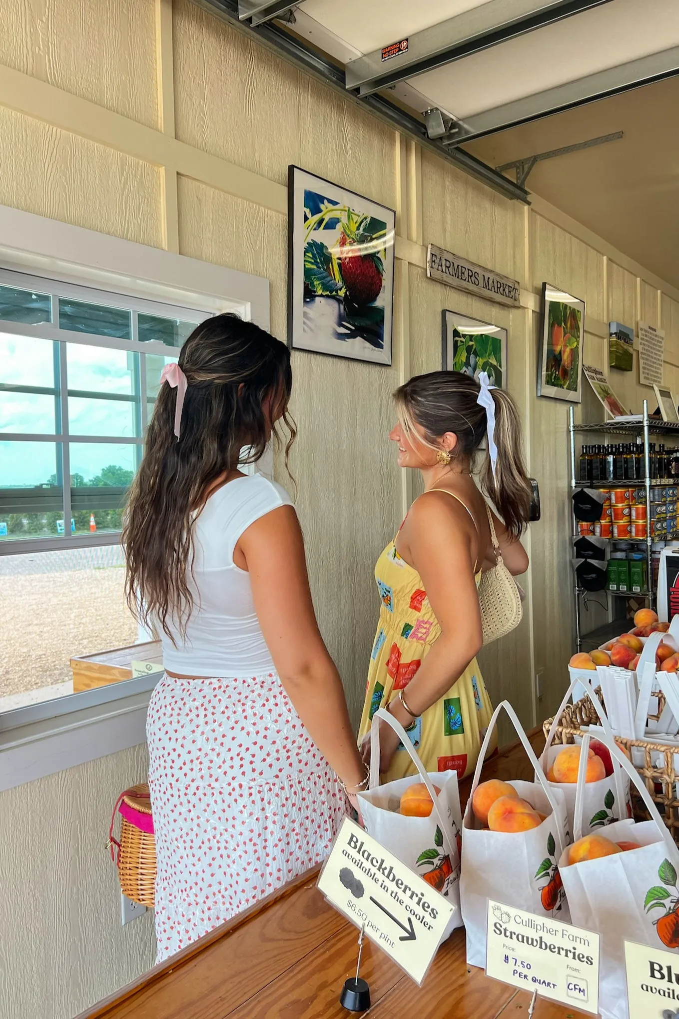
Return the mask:
[(0, 204), (162, 247), (160, 170), (0, 106)]

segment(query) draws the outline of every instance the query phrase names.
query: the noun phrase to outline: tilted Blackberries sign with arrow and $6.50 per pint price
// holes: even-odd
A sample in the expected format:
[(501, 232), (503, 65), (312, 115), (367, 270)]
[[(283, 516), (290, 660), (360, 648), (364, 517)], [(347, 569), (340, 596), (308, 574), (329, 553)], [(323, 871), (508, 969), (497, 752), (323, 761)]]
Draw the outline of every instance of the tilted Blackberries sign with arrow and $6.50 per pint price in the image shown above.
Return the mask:
[(420, 984), (456, 906), (348, 817), (319, 888), (378, 948)]

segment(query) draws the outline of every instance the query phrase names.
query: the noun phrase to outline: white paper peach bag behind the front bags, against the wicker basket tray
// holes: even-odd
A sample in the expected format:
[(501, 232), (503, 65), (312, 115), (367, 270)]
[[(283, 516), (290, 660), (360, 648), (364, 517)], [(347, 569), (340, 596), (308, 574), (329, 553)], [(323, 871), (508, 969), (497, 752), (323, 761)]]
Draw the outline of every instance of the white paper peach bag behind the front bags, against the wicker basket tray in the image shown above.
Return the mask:
[[(561, 702), (561, 706), (554, 716), (552, 728), (547, 736), (545, 749), (540, 758), (542, 770), (546, 776), (559, 753), (563, 750), (563, 744), (553, 744), (552, 741), (561, 719), (563, 709), (576, 688), (581, 688), (584, 691), (597, 709), (604, 733), (609, 737), (609, 739), (613, 739), (611, 726), (599, 697), (588, 683), (574, 681), (566, 691), (566, 695)], [(581, 764), (584, 763), (585, 756), (586, 755), (581, 755)], [(631, 803), (629, 799), (629, 779), (627, 776), (627, 772), (618, 764), (616, 760), (614, 760), (614, 758), (610, 756), (610, 754), (607, 756), (608, 761), (605, 760), (604, 764), (608, 766), (608, 770), (611, 770), (611, 774), (605, 779), (601, 779), (599, 782), (588, 782), (584, 786), (582, 794), (583, 835), (586, 835), (589, 830), (602, 828), (607, 824), (611, 824), (613, 821), (623, 820), (624, 818), (631, 817), (632, 815)], [(535, 781), (537, 781), (537, 777), (535, 777)], [(568, 830), (572, 833), (573, 815), (575, 812), (576, 783), (550, 783), (550, 785), (560, 789), (564, 794), (566, 815), (568, 817)]]

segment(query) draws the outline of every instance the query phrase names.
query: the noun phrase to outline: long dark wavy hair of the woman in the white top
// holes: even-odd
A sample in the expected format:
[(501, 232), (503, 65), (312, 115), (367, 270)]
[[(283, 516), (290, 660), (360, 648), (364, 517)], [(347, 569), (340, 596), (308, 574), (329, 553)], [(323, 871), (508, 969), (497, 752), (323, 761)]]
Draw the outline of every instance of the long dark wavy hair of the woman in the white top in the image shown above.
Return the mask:
[[(163, 384), (122, 531), (127, 604), (171, 640), (170, 623), (185, 634), (193, 608), (192, 529), (206, 492), (239, 462), (257, 463), (270, 434), (282, 444), (277, 418), (287, 429), (286, 467), (295, 437), (287, 413), (290, 352), (275, 336), (236, 315), (217, 315), (195, 327), (178, 360), (187, 382), (181, 435), (174, 434), (177, 389)], [(241, 460), (243, 447), (249, 451)]]

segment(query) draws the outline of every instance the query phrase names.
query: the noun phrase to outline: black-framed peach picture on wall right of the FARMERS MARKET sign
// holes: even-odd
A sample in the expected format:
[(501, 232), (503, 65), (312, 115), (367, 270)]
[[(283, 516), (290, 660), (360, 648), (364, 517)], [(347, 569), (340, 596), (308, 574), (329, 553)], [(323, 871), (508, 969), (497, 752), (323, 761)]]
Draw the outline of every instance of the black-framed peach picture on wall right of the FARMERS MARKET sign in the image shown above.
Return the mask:
[(579, 404), (582, 399), (584, 301), (543, 283), (543, 329), (537, 395)]

